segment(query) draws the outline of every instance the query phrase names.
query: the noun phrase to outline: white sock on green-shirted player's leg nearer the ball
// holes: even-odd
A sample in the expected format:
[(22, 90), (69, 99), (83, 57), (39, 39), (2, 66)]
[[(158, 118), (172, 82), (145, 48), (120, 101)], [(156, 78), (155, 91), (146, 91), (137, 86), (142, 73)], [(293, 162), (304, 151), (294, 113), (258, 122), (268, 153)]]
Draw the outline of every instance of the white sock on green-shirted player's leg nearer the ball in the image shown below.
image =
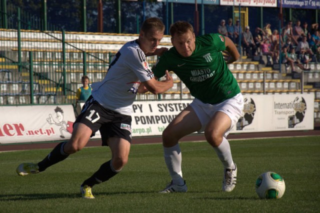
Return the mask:
[(213, 147), (224, 168), (234, 168), (229, 141), (223, 137), (219, 146)]

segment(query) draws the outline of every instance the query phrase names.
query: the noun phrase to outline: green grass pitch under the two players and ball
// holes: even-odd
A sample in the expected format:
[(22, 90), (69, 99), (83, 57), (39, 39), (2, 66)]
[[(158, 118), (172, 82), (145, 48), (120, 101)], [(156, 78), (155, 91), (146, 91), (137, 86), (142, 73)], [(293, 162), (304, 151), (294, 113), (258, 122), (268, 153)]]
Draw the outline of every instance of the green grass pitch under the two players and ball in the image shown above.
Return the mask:
[[(182, 142), (186, 193), (157, 193), (170, 180), (161, 144), (132, 145), (129, 162), (82, 199), (79, 186), (110, 158), (107, 147), (90, 147), (46, 171), (18, 176), (21, 162), (37, 162), (50, 150), (0, 152), (0, 212), (318, 212), (320, 136), (230, 141), (237, 185), (221, 192), (222, 164), (206, 142)], [(278, 172), (286, 190), (277, 200), (259, 199), (256, 177)]]

